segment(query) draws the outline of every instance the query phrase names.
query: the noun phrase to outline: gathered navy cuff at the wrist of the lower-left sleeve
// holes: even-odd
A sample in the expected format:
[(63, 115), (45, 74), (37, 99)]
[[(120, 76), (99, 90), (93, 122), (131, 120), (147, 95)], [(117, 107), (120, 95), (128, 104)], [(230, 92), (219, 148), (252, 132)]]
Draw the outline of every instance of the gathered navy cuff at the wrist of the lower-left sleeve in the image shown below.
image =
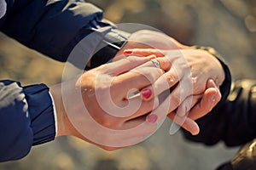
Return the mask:
[(23, 88), (31, 119), (33, 145), (55, 139), (55, 116), (49, 88), (44, 84)]

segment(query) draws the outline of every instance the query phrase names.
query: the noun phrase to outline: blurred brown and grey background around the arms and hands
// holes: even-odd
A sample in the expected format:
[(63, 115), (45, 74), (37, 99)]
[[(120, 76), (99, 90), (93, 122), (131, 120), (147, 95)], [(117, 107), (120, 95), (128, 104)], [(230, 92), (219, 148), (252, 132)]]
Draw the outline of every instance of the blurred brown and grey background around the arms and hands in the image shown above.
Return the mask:
[[(153, 26), (188, 45), (217, 48), (233, 77), (256, 77), (255, 0), (90, 0), (114, 23)], [(0, 34), (0, 78), (23, 85), (61, 82), (63, 63), (44, 57)], [(254, 47), (254, 48), (253, 48)], [(211, 170), (238, 148), (191, 143), (182, 132), (169, 135), (166, 120), (141, 144), (112, 152), (73, 137), (32, 148), (26, 158), (0, 164), (0, 170)], [(218, 125), (212, 125), (218, 126)], [(3, 137), (2, 137), (3, 138)]]

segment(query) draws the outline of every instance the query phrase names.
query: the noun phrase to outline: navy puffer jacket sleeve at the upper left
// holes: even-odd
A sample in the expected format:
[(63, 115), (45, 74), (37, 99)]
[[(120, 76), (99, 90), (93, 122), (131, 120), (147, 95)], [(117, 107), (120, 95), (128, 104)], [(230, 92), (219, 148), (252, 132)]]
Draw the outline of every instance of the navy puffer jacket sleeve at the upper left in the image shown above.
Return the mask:
[[(9, 37), (60, 61), (67, 60), (81, 39), (102, 27), (113, 26), (102, 19), (101, 9), (83, 0), (7, 0), (7, 13), (0, 20), (0, 30)], [(89, 45), (96, 48), (99, 42), (92, 40)]]

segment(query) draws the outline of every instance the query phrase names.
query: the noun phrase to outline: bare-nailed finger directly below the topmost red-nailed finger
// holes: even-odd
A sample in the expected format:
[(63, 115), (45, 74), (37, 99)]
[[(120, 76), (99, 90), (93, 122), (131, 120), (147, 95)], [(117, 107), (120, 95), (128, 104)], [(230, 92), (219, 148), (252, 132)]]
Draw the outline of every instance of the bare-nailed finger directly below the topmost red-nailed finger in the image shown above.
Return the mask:
[(131, 71), (136, 68), (138, 65), (142, 65), (146, 63), (150, 57), (137, 57), (137, 56), (129, 56), (125, 59), (120, 59), (118, 61), (114, 61), (112, 63), (108, 63), (106, 65), (102, 65), (102, 72), (107, 73), (111, 76), (117, 76), (127, 71)]

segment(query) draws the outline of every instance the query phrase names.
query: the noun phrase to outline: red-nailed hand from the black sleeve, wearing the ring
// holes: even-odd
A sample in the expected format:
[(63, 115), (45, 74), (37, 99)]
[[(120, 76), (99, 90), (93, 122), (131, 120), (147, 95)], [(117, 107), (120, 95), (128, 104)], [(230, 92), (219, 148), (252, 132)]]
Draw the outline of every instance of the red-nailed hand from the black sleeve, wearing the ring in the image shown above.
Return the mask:
[[(216, 105), (221, 98), (218, 86), (224, 81), (224, 71), (218, 59), (212, 54), (199, 49), (158, 50), (135, 48), (125, 50), (124, 53), (138, 56), (154, 54), (158, 57), (157, 61), (160, 63), (160, 68), (166, 73), (152, 85), (142, 89), (142, 91), (147, 89), (154, 93), (150, 98), (143, 99), (153, 99), (154, 96), (160, 95), (169, 88), (172, 91), (160, 107), (151, 114), (165, 116), (163, 111), (168, 111), (168, 113), (172, 113), (169, 117), (183, 125), (190, 133), (199, 133), (199, 128), (192, 120), (206, 115), (210, 111), (209, 108)], [(209, 79), (212, 79), (213, 82), (207, 82)], [(215, 86), (215, 83), (217, 86)], [(206, 105), (205, 99), (209, 99), (209, 96), (212, 95), (215, 96), (214, 101), (211, 102), (212, 107), (207, 105), (205, 111), (202, 111), (201, 105)], [(201, 102), (199, 102), (200, 100)], [(185, 119), (193, 107), (193, 115), (189, 115), (193, 119)], [(199, 108), (201, 110), (196, 113)], [(174, 112), (175, 115), (173, 115)]]

